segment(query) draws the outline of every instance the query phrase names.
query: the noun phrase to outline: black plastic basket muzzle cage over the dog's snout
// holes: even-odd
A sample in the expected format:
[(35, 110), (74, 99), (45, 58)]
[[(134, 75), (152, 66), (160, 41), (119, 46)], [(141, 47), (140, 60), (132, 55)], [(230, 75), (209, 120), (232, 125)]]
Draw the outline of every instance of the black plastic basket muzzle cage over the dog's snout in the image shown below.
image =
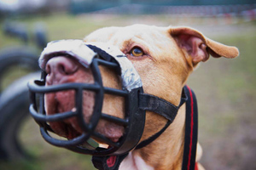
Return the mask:
[[(94, 50), (95, 51), (95, 50)], [(96, 51), (95, 51), (96, 52)], [(41, 80), (28, 83), (32, 104), (30, 112), (32, 117), (38, 122), (43, 138), (55, 146), (64, 147), (75, 152), (89, 154), (94, 156), (121, 155), (132, 150), (143, 134), (145, 111), (139, 109), (138, 94), (143, 93), (143, 88), (133, 88), (131, 90), (120, 90), (115, 88), (106, 88), (102, 85), (102, 76), (99, 65), (112, 68), (120, 74), (120, 65), (115, 59), (106, 59), (101, 52), (96, 52), (97, 57), (92, 59), (90, 69), (92, 71), (95, 82), (88, 83), (65, 83), (60, 85), (45, 86), (46, 73), (42, 72)], [(75, 108), (76, 111), (67, 111), (63, 113), (55, 113), (55, 115), (46, 115), (44, 111), (44, 94), (55, 93), (64, 90), (75, 91)], [(95, 93), (95, 105), (90, 122), (86, 123), (83, 116), (83, 91), (88, 90)], [(115, 116), (109, 116), (108, 113), (102, 113), (102, 104), (104, 94), (113, 94), (122, 96), (125, 99), (125, 118), (121, 119)], [(53, 132), (49, 127), (49, 122), (61, 122), (65, 119), (77, 117), (79, 127), (83, 133), (74, 139), (62, 140), (55, 139), (49, 132)], [(123, 136), (118, 142), (106, 138), (100, 133), (96, 133), (95, 129), (99, 120), (104, 119), (114, 122), (125, 127)], [(108, 149), (93, 146), (90, 144), (90, 138), (103, 141), (108, 144)]]

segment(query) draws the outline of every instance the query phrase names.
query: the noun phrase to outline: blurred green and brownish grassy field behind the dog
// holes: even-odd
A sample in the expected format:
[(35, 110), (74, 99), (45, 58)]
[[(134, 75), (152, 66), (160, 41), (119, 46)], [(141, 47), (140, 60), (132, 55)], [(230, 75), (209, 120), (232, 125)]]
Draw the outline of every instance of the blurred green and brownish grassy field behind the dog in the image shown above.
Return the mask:
[[(171, 21), (170, 21), (171, 20)], [(44, 22), (49, 40), (83, 38), (90, 31), (102, 26), (126, 26), (144, 23), (156, 26), (177, 25), (168, 16), (115, 16), (83, 15), (52, 16), (19, 19), (32, 31), (36, 22)], [(207, 37), (236, 46), (240, 49), (237, 59), (209, 59), (189, 77), (189, 86), (197, 94), (199, 103), (199, 140), (204, 153), (201, 163), (207, 169), (239, 170), (256, 169), (256, 24), (240, 23), (231, 26), (209, 26), (202, 22), (178, 22), (194, 26)], [(0, 24), (3, 26), (3, 23)], [(14, 38), (0, 32), (0, 48), (19, 45)], [(33, 44), (31, 44), (33, 45)], [(22, 72), (22, 71), (20, 71)], [(23, 75), (18, 72), (18, 76)], [(11, 82), (13, 77), (6, 81)], [(2, 170), (80, 170), (93, 169), (90, 156), (46, 144), (38, 127), (29, 119), (20, 130), (20, 139), (32, 160), (0, 161)]]

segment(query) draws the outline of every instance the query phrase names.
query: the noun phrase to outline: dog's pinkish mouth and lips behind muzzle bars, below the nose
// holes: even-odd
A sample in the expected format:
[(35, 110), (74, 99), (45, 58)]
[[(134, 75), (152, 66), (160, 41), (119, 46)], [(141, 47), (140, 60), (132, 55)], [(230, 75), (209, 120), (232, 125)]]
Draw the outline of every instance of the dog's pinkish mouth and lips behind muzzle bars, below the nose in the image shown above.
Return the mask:
[[(58, 92), (55, 94), (46, 94), (45, 99), (47, 115), (64, 113), (67, 111), (76, 111), (76, 108), (74, 107), (72, 101), (73, 94), (73, 90)], [(84, 93), (84, 95), (85, 94), (90, 94), (90, 92)], [(63, 99), (62, 96), (66, 96), (66, 98)], [(86, 123), (90, 122), (90, 117), (93, 111), (93, 105), (90, 104), (91, 101), (89, 102), (89, 104), (84, 103), (84, 122)], [(79, 126), (79, 121), (77, 120), (77, 117), (71, 117), (60, 122), (49, 122), (49, 126), (56, 134), (67, 139), (74, 139), (79, 137), (82, 133), (86, 133)], [(113, 122), (100, 120), (96, 126), (95, 131), (96, 133), (102, 134), (113, 142), (118, 142), (124, 133), (124, 127)], [(99, 140), (97, 140), (97, 142), (103, 143), (103, 141)]]

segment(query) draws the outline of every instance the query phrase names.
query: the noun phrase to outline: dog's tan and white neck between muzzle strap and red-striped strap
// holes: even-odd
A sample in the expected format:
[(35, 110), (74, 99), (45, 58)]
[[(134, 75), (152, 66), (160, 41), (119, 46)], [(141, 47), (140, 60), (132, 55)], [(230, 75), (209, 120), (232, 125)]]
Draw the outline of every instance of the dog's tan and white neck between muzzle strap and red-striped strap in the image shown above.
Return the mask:
[(119, 169), (181, 169), (183, 161), (185, 105), (175, 121), (154, 142), (140, 150), (133, 150), (122, 161)]

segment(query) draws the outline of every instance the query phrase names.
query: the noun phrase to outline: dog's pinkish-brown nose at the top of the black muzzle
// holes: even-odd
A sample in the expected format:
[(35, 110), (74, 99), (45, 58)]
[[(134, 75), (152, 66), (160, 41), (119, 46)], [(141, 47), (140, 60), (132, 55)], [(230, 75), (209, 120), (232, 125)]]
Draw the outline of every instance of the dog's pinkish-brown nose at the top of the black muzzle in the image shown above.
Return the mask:
[(58, 56), (49, 59), (45, 68), (48, 73), (46, 82), (49, 85), (61, 83), (78, 71), (78, 68), (76, 61), (67, 57)]

